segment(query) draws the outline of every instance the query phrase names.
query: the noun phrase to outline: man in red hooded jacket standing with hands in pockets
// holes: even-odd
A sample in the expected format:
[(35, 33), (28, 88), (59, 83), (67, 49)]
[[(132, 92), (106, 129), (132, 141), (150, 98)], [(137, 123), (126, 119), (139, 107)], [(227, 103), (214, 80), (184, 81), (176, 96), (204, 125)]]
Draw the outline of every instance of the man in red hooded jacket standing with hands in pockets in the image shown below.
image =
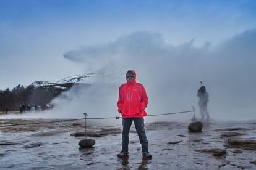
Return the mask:
[(128, 156), (129, 131), (132, 121), (142, 144), (143, 158), (152, 158), (148, 152), (148, 140), (144, 129), (145, 108), (148, 97), (142, 84), (136, 82), (136, 73), (129, 70), (126, 73), (127, 83), (119, 87), (118, 112), (122, 114), (122, 150), (117, 154), (119, 158)]

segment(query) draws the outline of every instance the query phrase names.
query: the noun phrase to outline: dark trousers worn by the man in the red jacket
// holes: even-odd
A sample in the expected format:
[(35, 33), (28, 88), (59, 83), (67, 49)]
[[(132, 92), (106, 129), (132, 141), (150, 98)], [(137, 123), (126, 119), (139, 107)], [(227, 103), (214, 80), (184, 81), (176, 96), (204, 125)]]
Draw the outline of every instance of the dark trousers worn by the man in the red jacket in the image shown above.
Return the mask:
[(134, 121), (137, 134), (142, 144), (142, 152), (148, 152), (148, 140), (144, 129), (144, 118), (123, 118), (122, 119), (122, 150), (128, 152), (129, 131)]

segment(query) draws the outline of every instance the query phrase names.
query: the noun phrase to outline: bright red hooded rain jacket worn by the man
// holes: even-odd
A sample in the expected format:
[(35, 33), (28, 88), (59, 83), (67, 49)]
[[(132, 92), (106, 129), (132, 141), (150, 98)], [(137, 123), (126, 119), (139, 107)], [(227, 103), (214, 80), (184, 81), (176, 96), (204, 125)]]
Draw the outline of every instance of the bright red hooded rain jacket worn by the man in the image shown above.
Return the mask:
[(143, 118), (147, 116), (148, 96), (143, 85), (136, 82), (135, 71), (130, 71), (134, 73), (134, 80), (119, 87), (118, 112), (122, 118)]

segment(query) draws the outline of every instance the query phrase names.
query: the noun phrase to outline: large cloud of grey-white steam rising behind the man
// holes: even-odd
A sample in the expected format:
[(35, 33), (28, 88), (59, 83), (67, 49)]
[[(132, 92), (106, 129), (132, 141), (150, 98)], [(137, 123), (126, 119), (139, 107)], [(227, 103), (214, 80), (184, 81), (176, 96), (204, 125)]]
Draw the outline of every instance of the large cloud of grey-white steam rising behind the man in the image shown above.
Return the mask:
[[(137, 82), (147, 90), (148, 115), (187, 111), (194, 106), (200, 118), (196, 94), (202, 81), (210, 96), (211, 118), (256, 119), (256, 30), (237, 34), (218, 46), (206, 42), (195, 47), (194, 41), (172, 46), (160, 33), (137, 31), (108, 44), (72, 49), (64, 57), (84, 65), (85, 73), (96, 73), (95, 83), (65, 92), (53, 100), (53, 110), (36, 117), (83, 118), (83, 112), (89, 117), (117, 116), (118, 87), (126, 82), (126, 71), (135, 70)], [(190, 118), (192, 113), (147, 120)]]

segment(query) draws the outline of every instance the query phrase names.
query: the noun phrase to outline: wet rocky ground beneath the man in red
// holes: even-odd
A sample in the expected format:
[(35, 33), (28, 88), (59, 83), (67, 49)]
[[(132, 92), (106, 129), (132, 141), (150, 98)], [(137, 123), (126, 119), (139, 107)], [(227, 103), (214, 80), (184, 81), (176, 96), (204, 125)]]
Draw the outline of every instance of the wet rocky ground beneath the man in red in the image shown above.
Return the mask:
[[(43, 121), (49, 120), (0, 119), (0, 126)], [(0, 127), (0, 169), (256, 169), (256, 121), (211, 121), (199, 133), (188, 125), (146, 123), (152, 160), (142, 159), (134, 125), (129, 158), (117, 158), (121, 121), (91, 121), (86, 134), (83, 121)], [(85, 136), (96, 141), (92, 148), (79, 147)]]

